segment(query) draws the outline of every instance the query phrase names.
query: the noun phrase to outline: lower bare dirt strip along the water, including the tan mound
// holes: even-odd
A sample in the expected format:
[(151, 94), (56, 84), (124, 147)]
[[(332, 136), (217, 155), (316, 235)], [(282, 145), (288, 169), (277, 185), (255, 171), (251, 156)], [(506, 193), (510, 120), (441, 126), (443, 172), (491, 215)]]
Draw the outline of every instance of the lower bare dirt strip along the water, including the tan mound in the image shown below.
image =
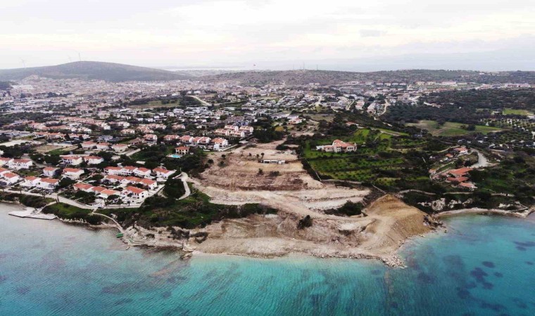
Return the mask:
[[(406, 239), (429, 232), (425, 214), (386, 195), (374, 202), (368, 216), (340, 217), (313, 211), (294, 203), (271, 202), (286, 207), (275, 215), (222, 220), (208, 225), (208, 239), (194, 244), (196, 251), (210, 254), (274, 257), (291, 253), (320, 257), (378, 258), (389, 265), (401, 265), (396, 249)], [(302, 230), (303, 215), (313, 225)]]

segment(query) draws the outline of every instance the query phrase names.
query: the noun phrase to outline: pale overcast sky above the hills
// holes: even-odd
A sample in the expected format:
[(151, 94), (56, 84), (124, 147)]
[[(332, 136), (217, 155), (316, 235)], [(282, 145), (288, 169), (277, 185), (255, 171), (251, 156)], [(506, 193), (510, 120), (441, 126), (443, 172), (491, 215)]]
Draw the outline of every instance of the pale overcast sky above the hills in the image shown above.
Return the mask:
[(529, 0), (0, 1), (0, 68), (535, 70)]

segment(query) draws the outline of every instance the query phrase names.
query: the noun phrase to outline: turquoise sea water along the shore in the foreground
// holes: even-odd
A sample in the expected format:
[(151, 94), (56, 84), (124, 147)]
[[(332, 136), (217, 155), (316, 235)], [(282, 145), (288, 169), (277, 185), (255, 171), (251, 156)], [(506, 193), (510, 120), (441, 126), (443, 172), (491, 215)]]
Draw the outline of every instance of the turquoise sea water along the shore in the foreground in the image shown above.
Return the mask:
[(459, 216), (408, 268), (130, 249), (0, 206), (0, 315), (534, 315), (535, 220)]

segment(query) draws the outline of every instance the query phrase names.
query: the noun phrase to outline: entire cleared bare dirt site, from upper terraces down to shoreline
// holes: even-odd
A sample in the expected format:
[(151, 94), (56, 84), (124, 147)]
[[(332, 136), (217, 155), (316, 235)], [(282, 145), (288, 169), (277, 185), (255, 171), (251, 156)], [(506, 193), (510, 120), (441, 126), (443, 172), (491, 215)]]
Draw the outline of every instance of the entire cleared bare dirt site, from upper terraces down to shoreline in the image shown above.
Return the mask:
[[(334, 216), (325, 213), (346, 202), (365, 202), (367, 189), (336, 187), (313, 180), (295, 154), (280, 152), (282, 142), (241, 147), (233, 152), (210, 155), (213, 166), (190, 178), (196, 190), (206, 193), (216, 204), (259, 203), (278, 210), (277, 215), (254, 215), (225, 219), (199, 231), (208, 232), (202, 243), (190, 242), (196, 251), (244, 256), (283, 256), (290, 253), (320, 257), (379, 258), (400, 265), (396, 249), (409, 237), (429, 232), (425, 213), (400, 199), (386, 195), (368, 205), (367, 216)], [(251, 155), (249, 155), (251, 153)], [(285, 160), (286, 164), (260, 164), (265, 159)], [(225, 154), (225, 157), (222, 155)], [(226, 166), (219, 166), (223, 161)], [(258, 169), (263, 169), (258, 174)], [(278, 176), (270, 176), (278, 171)], [(298, 229), (298, 222), (310, 216), (313, 225)]]

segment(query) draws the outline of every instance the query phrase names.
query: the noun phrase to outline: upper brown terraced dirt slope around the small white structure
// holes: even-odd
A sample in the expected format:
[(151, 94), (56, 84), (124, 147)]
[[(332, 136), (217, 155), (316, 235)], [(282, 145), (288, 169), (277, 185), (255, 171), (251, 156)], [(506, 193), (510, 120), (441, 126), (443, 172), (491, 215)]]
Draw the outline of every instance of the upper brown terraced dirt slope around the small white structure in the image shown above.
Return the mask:
[[(230, 152), (210, 154), (208, 158), (213, 159), (214, 163), (201, 173), (200, 178), (203, 183), (225, 187), (226, 190), (301, 190), (322, 187), (320, 182), (308, 176), (296, 154), (292, 154), (291, 150), (275, 149), (282, 142), (256, 144)], [(284, 164), (263, 164), (258, 162), (259, 159), (284, 161)]]

